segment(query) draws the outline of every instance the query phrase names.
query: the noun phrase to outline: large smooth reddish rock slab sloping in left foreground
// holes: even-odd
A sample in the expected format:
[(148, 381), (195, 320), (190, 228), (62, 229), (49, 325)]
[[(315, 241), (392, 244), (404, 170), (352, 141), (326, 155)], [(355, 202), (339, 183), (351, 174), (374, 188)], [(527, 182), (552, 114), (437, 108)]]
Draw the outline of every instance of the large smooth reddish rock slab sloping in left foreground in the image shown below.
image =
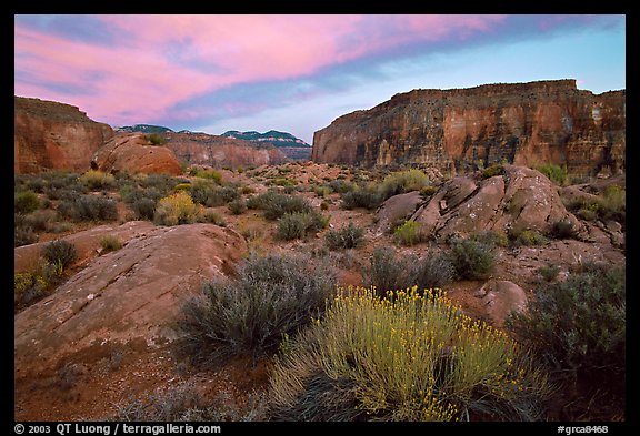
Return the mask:
[(157, 227), (93, 260), (16, 315), (16, 378), (90, 362), (114, 343), (144, 351), (171, 342), (181, 302), (232, 272), (246, 251), (238, 233), (199, 223)]

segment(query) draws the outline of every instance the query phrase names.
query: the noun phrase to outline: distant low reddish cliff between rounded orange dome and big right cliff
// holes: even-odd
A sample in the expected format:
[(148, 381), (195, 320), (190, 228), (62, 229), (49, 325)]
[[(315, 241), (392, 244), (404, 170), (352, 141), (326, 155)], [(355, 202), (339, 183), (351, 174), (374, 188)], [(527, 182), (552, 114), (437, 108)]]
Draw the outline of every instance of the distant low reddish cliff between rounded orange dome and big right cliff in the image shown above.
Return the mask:
[(167, 132), (162, 136), (167, 139), (164, 146), (172, 150), (176, 156), (187, 164), (236, 169), (278, 165), (289, 161), (279, 149), (271, 144), (256, 144), (207, 133)]

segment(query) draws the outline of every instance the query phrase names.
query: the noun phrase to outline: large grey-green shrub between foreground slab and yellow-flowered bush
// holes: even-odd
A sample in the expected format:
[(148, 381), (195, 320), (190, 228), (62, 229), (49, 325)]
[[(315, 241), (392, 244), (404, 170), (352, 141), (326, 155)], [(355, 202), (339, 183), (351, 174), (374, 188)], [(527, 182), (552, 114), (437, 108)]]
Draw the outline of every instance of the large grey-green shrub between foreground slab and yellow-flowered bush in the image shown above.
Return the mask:
[(206, 283), (202, 294), (182, 306), (177, 352), (199, 365), (268, 355), (320, 316), (334, 280), (322, 260), (251, 253), (233, 280)]

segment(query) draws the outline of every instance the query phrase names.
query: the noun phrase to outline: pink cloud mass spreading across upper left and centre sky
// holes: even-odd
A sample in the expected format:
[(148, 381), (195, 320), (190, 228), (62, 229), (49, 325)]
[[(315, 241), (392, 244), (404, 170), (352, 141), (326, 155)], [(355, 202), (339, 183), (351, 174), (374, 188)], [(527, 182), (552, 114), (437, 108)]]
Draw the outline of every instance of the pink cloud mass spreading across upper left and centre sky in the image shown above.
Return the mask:
[[(500, 16), (99, 16), (117, 40), (81, 42), (14, 27), (16, 93), (111, 123), (167, 115), (226, 87), (313, 74), (412, 42), (469, 38)], [(81, 18), (79, 18), (81, 19)], [(64, 87), (86, 89), (81, 95)], [(138, 121), (138, 120), (136, 120)]]

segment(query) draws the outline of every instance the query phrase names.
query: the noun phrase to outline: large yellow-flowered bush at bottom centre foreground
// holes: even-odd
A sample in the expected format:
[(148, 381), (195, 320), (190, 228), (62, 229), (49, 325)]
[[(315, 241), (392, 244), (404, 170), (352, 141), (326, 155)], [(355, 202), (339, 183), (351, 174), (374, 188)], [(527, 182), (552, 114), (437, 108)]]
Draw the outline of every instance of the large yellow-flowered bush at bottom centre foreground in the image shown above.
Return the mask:
[(438, 291), (339, 290), (287, 341), (269, 383), (274, 420), (536, 420), (548, 388), (526, 349)]

